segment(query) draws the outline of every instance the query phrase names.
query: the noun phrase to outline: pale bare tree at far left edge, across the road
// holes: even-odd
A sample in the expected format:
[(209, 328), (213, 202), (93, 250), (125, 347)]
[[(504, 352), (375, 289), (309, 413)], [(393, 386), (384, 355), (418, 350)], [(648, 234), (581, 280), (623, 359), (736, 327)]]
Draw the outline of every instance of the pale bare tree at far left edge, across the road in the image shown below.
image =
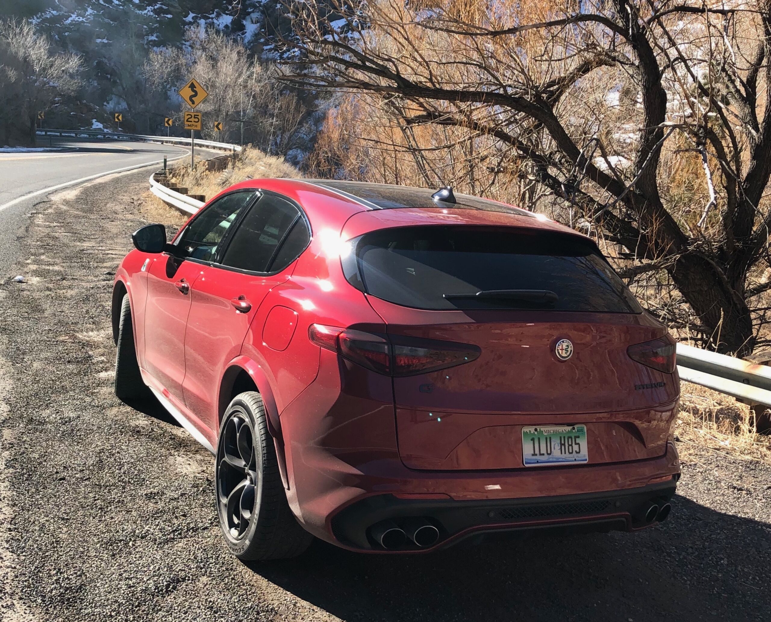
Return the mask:
[(75, 93), (81, 69), (79, 56), (54, 49), (29, 22), (0, 20), (0, 127), (5, 138), (34, 143), (37, 113)]

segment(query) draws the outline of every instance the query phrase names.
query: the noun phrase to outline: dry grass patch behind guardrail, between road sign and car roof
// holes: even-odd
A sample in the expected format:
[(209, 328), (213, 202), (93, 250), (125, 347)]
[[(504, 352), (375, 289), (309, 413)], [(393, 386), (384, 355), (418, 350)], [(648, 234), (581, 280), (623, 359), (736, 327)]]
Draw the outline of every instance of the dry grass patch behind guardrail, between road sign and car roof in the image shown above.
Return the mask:
[(266, 155), (254, 147), (244, 147), (238, 154), (235, 167), (229, 165), (224, 171), (206, 171), (204, 167), (190, 171), (190, 167), (179, 167), (173, 169), (172, 177), (180, 186), (188, 188), (190, 194), (204, 194), (209, 199), (239, 181), (261, 177), (297, 178), (302, 174), (282, 157)]

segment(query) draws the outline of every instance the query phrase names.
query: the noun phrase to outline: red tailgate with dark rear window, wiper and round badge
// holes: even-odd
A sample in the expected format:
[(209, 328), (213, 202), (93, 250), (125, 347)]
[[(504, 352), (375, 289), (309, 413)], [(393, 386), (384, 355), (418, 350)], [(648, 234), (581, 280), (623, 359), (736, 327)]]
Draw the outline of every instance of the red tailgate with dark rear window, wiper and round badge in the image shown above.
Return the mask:
[(590, 241), (524, 228), (389, 228), (358, 238), (355, 258), (389, 335), (480, 349), (470, 363), (394, 379), (410, 466), (516, 468), (522, 424), (594, 422), (594, 461), (645, 458), (665, 443), (665, 417), (651, 422), (650, 409), (676, 399), (676, 378), (627, 354), (665, 330)]

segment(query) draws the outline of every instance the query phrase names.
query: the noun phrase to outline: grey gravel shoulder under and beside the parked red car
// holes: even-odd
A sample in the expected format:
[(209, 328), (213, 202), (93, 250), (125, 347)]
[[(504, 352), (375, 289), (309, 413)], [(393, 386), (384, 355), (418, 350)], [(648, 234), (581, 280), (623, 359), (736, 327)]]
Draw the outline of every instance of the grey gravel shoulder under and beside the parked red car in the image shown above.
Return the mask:
[(232, 558), (211, 455), (113, 395), (113, 272), (145, 190), (140, 172), (39, 203), (0, 275), (0, 620), (769, 619), (771, 467), (711, 450), (634, 534)]

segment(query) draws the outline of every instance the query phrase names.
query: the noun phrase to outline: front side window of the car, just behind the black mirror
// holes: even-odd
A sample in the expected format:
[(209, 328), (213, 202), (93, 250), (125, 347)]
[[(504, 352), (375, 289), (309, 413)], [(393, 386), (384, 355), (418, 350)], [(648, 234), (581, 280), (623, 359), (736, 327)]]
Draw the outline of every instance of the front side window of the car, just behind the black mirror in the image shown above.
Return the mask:
[(178, 245), (185, 256), (213, 262), (227, 230), (251, 200), (254, 191), (226, 194), (200, 213), (182, 232)]

